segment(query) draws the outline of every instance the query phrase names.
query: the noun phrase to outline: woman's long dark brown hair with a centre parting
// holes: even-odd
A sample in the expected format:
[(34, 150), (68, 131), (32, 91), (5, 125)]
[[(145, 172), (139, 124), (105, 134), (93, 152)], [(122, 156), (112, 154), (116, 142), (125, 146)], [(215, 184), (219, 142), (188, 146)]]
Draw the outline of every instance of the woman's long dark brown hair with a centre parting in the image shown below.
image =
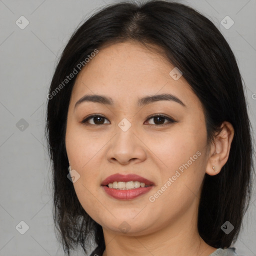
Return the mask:
[[(53, 218), (64, 251), (74, 245), (105, 249), (102, 227), (82, 208), (68, 174), (65, 129), (69, 99), (79, 63), (95, 49), (135, 41), (178, 67), (203, 105), (207, 141), (223, 121), (234, 137), (226, 164), (217, 175), (205, 174), (198, 208), (198, 232), (213, 247), (229, 247), (237, 239), (251, 196), (252, 137), (241, 75), (228, 43), (215, 25), (193, 8), (160, 0), (117, 3), (98, 10), (71, 35), (56, 65), (48, 92), (45, 134), (53, 177)], [(93, 61), (93, 60), (92, 60)], [(65, 81), (65, 83), (63, 83)], [(62, 86), (60, 86), (62, 84)], [(61, 87), (61, 89), (60, 89)], [(234, 229), (226, 234), (228, 220)]]

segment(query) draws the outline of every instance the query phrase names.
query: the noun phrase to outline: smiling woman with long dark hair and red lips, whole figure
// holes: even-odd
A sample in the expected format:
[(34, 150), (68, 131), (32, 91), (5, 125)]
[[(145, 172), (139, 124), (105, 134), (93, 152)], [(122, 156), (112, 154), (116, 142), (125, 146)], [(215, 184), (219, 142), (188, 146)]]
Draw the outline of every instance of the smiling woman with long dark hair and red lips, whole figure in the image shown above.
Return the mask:
[[(235, 57), (180, 3), (118, 3), (71, 36), (46, 134), (65, 252), (236, 255), (251, 128)], [(69, 172), (68, 172), (69, 170)]]

